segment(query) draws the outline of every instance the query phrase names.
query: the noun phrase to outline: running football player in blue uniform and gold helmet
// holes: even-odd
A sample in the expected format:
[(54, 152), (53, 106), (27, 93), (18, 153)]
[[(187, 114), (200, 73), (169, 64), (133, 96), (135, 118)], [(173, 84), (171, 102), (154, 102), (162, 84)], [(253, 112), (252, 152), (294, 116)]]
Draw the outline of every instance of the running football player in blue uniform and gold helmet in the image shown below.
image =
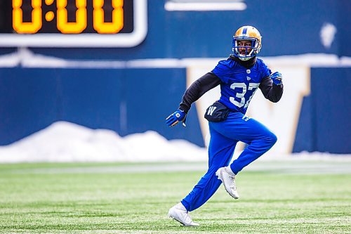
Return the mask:
[[(277, 141), (272, 131), (263, 124), (245, 116), (250, 100), (259, 88), (263, 96), (276, 103), (282, 98), (282, 74), (272, 73), (256, 56), (262, 46), (260, 32), (255, 27), (243, 26), (235, 32), (232, 55), (195, 81), (184, 93), (176, 112), (166, 118), (168, 126), (179, 122), (185, 125), (192, 103), (206, 91), (220, 85), (220, 99), (206, 110), (211, 140), (208, 145), (208, 171), (190, 193), (174, 207), (168, 216), (185, 226), (198, 226), (188, 212), (201, 207), (223, 183), (234, 199), (239, 198), (235, 176), (248, 164), (257, 160)], [(230, 164), (235, 145), (248, 145)]]

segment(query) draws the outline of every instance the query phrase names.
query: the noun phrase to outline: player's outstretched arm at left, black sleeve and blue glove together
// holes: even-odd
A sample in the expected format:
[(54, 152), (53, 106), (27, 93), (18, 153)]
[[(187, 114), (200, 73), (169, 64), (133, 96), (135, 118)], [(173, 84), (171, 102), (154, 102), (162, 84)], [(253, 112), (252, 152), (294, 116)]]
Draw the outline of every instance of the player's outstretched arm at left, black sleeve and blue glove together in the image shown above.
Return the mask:
[(185, 91), (182, 102), (179, 105), (179, 109), (166, 118), (166, 124), (168, 124), (168, 126), (175, 126), (178, 124), (178, 122), (183, 122), (183, 125), (185, 126), (186, 115), (190, 110), (192, 103), (198, 100), (207, 91), (218, 86), (220, 82), (220, 79), (216, 76), (216, 74), (213, 74), (213, 72), (208, 72), (197, 79)]

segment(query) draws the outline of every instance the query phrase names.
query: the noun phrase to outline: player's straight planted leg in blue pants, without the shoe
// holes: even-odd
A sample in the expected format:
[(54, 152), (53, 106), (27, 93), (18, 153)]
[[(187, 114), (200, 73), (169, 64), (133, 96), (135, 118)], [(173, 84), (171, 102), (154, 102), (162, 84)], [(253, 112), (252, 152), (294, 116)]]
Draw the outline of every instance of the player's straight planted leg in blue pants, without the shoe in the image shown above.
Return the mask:
[(230, 163), (237, 141), (219, 134), (211, 128), (211, 140), (208, 145), (208, 171), (200, 179), (192, 191), (182, 200), (187, 211), (201, 207), (218, 189), (220, 181), (216, 171)]

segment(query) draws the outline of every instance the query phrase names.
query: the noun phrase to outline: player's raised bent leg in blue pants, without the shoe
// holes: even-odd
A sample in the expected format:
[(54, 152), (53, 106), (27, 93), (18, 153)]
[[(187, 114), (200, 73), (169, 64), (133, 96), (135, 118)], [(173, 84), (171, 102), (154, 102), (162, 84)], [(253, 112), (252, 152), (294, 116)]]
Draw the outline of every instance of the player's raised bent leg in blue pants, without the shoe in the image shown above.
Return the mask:
[(244, 117), (241, 113), (231, 113), (228, 119), (230, 121), (213, 124), (213, 128), (228, 138), (249, 144), (237, 160), (230, 164), (232, 172), (238, 174), (241, 169), (270, 150), (276, 143), (277, 136), (260, 122)]

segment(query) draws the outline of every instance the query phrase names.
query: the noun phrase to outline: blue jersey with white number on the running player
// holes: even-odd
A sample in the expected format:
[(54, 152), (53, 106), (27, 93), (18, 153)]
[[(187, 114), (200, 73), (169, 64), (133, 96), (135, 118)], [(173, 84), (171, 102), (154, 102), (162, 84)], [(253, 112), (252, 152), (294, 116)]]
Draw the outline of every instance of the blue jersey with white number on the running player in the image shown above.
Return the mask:
[(233, 59), (220, 60), (212, 70), (220, 78), (220, 103), (235, 112), (246, 113), (253, 94), (263, 78), (270, 76), (270, 69), (257, 58), (255, 65), (246, 68)]

